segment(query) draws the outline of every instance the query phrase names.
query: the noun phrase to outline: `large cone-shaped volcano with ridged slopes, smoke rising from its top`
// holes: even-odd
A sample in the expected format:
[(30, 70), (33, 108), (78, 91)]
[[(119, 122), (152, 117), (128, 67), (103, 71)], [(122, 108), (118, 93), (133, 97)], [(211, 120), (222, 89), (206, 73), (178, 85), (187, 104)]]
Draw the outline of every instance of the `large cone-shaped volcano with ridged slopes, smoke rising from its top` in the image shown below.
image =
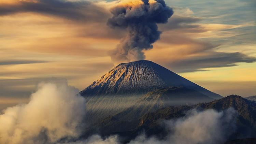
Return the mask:
[(162, 107), (222, 98), (147, 60), (120, 63), (80, 94), (87, 99), (87, 120), (92, 123), (117, 114), (132, 121)]

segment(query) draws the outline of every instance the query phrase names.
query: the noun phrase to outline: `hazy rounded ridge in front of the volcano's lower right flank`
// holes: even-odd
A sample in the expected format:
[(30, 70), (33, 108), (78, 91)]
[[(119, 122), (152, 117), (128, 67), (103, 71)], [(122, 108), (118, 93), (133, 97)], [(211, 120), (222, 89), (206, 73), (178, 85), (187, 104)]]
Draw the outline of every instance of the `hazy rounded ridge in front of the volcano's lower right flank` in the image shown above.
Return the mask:
[(214, 99), (202, 93), (184, 87), (156, 89), (143, 95), (133, 106), (116, 114), (118, 119), (138, 119), (146, 113), (154, 112), (168, 106), (192, 105), (199, 102), (210, 102)]

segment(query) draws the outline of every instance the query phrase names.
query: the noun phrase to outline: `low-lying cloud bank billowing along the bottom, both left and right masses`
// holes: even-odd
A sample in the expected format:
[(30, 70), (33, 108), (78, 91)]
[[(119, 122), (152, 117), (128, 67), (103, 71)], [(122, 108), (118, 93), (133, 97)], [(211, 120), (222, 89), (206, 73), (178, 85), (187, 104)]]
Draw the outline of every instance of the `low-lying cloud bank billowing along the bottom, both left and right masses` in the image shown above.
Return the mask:
[[(86, 100), (67, 83), (41, 83), (27, 104), (9, 107), (0, 115), (0, 143), (3, 144), (120, 144), (118, 135), (99, 135), (86, 140), (82, 134)], [(164, 122), (170, 131), (164, 140), (137, 136), (129, 144), (214, 144), (225, 142), (235, 129), (237, 112), (190, 111), (187, 116)], [(75, 141), (76, 140), (76, 141)]]

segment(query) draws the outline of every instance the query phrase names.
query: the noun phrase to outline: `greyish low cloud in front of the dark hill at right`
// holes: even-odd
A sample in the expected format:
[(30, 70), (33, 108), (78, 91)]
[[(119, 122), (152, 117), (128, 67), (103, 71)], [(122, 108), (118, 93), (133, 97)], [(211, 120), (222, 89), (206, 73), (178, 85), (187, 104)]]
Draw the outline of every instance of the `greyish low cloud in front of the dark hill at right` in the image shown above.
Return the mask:
[(189, 117), (179, 119), (174, 123), (167, 121), (170, 127), (174, 126), (174, 132), (169, 141), (173, 140), (175, 144), (225, 142), (227, 136), (234, 132), (233, 119), (236, 116), (237, 112), (233, 108), (222, 112), (193, 110)]

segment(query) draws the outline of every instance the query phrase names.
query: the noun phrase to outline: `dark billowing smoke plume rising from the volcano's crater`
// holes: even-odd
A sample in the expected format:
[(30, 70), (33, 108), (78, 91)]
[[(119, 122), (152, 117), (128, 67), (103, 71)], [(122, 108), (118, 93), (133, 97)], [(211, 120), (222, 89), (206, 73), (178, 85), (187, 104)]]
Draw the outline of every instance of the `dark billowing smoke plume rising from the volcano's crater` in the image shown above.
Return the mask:
[(163, 0), (122, 0), (111, 9), (113, 17), (108, 25), (126, 29), (127, 35), (116, 49), (110, 52), (114, 62), (145, 59), (143, 50), (153, 48), (160, 38), (157, 23), (167, 23), (172, 8)]

